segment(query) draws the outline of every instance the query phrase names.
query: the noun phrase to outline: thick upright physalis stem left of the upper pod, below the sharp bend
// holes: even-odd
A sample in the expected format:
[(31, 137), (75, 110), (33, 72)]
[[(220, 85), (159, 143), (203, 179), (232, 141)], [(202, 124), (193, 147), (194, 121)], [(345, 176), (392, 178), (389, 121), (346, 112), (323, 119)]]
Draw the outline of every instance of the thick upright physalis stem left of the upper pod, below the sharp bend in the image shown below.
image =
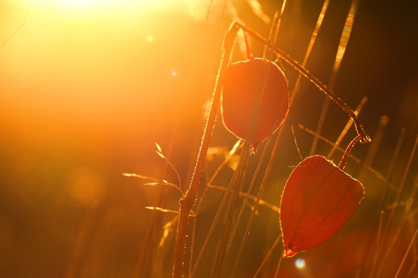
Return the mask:
[(212, 98), (211, 111), (208, 115), (206, 127), (203, 135), (203, 140), (201, 142), (196, 168), (192, 176), (192, 180), (189, 185), (189, 189), (186, 192), (184, 198), (181, 198), (179, 201), (180, 204), (180, 215), (178, 217), (178, 226), (176, 234), (176, 243), (174, 249), (174, 264), (173, 264), (173, 278), (181, 278), (182, 269), (185, 258), (185, 245), (186, 245), (186, 235), (187, 235), (187, 226), (189, 213), (192, 207), (195, 204), (197, 188), (200, 182), (200, 177), (203, 170), (203, 164), (206, 158), (207, 149), (209, 147), (212, 131), (214, 129), (216, 114), (221, 97), (221, 88), (223, 84), (223, 79), (225, 76), (226, 68), (229, 64), (233, 43), (239, 26), (232, 24), (228, 32), (226, 33), (225, 40), (223, 43), (223, 57), (221, 59), (221, 66), (218, 74), (218, 78), (215, 85), (215, 91)]

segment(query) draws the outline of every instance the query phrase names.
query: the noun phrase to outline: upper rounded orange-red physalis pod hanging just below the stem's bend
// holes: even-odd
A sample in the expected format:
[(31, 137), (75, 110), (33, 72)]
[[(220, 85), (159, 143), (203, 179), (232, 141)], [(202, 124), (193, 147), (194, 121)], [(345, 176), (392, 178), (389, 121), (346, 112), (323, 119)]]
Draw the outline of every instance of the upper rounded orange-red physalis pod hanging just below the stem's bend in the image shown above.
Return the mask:
[(288, 81), (273, 62), (255, 58), (231, 64), (222, 89), (222, 118), (237, 137), (258, 146), (283, 122), (289, 110)]

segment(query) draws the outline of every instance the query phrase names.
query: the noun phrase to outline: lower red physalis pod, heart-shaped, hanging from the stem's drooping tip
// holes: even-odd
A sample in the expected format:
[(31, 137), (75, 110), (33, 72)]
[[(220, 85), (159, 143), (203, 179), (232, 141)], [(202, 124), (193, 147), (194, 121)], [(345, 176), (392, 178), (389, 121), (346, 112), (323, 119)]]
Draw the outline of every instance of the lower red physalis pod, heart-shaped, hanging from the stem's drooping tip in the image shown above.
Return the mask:
[(284, 258), (329, 239), (354, 214), (364, 188), (340, 168), (316, 155), (293, 170), (280, 203)]

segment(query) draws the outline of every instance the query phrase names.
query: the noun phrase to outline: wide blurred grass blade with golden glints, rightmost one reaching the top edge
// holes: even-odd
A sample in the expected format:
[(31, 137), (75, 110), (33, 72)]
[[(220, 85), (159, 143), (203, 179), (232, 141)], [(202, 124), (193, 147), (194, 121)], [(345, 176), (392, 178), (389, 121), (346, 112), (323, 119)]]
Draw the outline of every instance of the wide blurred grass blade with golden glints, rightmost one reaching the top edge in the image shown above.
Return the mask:
[[(354, 22), (354, 18), (357, 12), (357, 7), (358, 7), (359, 2), (360, 2), (359, 0), (353, 0), (351, 2), (350, 10), (348, 12), (346, 22), (344, 24), (343, 33), (341, 34), (341, 39), (339, 40), (338, 50), (335, 56), (335, 61), (332, 67), (331, 77), (328, 83), (328, 88), (331, 91), (334, 90), (335, 81), (337, 79), (339, 68), (341, 66), (341, 61), (343, 60), (344, 53), (347, 48), (348, 40), (350, 39), (351, 30), (353, 29), (353, 22)], [(329, 102), (330, 100), (326, 98), (324, 100), (324, 104), (322, 105), (321, 114), (318, 119), (317, 129), (315, 130), (315, 132), (317, 132), (318, 134), (321, 134), (322, 127), (325, 122), (325, 117), (328, 112)], [(315, 154), (317, 144), (318, 144), (318, 138), (314, 137), (314, 141), (312, 142), (312, 145), (310, 147), (309, 156), (312, 156)]]

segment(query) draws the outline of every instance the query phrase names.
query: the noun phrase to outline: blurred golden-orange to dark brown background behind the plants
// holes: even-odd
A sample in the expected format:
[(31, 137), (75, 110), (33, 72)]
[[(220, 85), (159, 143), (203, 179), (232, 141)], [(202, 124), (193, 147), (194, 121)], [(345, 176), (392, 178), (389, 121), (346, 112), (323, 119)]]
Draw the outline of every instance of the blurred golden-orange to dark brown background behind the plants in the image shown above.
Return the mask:
[[(322, 5), (294, 0), (284, 10), (277, 45), (299, 62)], [(306, 65), (324, 84), (349, 7), (348, 0), (330, 1)], [(162, 179), (166, 172), (164, 179), (178, 184), (174, 171), (166, 171), (165, 161), (155, 153), (158, 143), (183, 188), (188, 185), (228, 26), (240, 19), (267, 37), (280, 9), (281, 1), (269, 0), (0, 0), (0, 276), (170, 276), (174, 233), (163, 246), (158, 243), (162, 226), (175, 214), (145, 209), (155, 205), (159, 189), (143, 185), (149, 180), (122, 173)], [(360, 1), (333, 91), (353, 109), (367, 96), (358, 117), (373, 142), (357, 144), (352, 154), (362, 163), (349, 160), (346, 166), (363, 183), (365, 199), (335, 237), (283, 260), (283, 277), (369, 273), (368, 251), (381, 210), (383, 221), (394, 211), (388, 238), (402, 228), (381, 277), (397, 271), (418, 220), (413, 202), (418, 186), (413, 156), (418, 134), (417, 13), (414, 1)], [(263, 45), (250, 42), (253, 54), (261, 57)], [(236, 47), (232, 60), (244, 59)], [(297, 72), (284, 67), (293, 88)], [(295, 135), (285, 127), (264, 194), (271, 204), (279, 205), (292, 166), (300, 162), (294, 137), (302, 156), (309, 156), (314, 136), (306, 128), (316, 130), (324, 99), (302, 80), (290, 112)], [(330, 103), (320, 135), (335, 142), (348, 120)], [(342, 148), (354, 136), (351, 127)], [(235, 142), (218, 117), (205, 175), (213, 173)], [(331, 148), (319, 140), (315, 154), (326, 156)], [(253, 169), (260, 154), (251, 158)], [(331, 158), (337, 163), (341, 156), (335, 151)], [(231, 175), (226, 167), (214, 183), (226, 186)], [(397, 191), (400, 202), (392, 209)], [(197, 218), (197, 251), (222, 196), (210, 190), (205, 199)], [(178, 210), (179, 197), (165, 187), (158, 204)], [(408, 198), (412, 205), (403, 224)], [(277, 212), (265, 207), (259, 212), (240, 277), (255, 273), (280, 233)], [(152, 213), (156, 224), (148, 238)], [(246, 213), (248, 218), (250, 210)], [(402, 272), (405, 277), (418, 272), (416, 243)], [(280, 248), (268, 261), (265, 277), (274, 273)], [(200, 277), (208, 276), (213, 252), (209, 249), (203, 257)], [(230, 256), (225, 277), (235, 258)], [(306, 262), (302, 269), (295, 266), (300, 258)]]

